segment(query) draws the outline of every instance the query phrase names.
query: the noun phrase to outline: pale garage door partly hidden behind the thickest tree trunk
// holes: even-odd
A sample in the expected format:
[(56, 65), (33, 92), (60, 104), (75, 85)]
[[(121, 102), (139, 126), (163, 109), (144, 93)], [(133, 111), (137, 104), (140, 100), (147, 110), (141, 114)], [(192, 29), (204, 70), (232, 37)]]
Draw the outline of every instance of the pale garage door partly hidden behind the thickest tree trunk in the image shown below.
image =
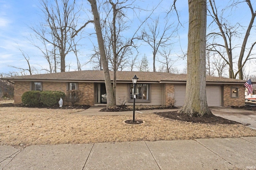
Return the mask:
[[(183, 106), (186, 95), (186, 86), (174, 86), (175, 106)], [(206, 86), (208, 106), (221, 106), (220, 86)]]

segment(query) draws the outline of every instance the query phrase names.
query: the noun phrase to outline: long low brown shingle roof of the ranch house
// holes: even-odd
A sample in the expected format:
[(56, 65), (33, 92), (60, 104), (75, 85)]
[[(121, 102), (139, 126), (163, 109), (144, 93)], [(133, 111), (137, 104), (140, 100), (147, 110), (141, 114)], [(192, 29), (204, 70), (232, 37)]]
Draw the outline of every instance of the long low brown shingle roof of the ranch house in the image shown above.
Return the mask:
[[(186, 74), (170, 74), (166, 72), (135, 72), (118, 71), (116, 73), (117, 82), (131, 82), (136, 74), (138, 82), (183, 82), (186, 83)], [(113, 80), (113, 71), (110, 71), (110, 78)], [(83, 81), (83, 82), (104, 82), (103, 70), (83, 70), (73, 72), (57, 72), (50, 74), (36, 74), (27, 76), (15, 76), (2, 78), (10, 81)], [(206, 82), (215, 83), (236, 83), (244, 84), (245, 80), (236, 80), (230, 78), (220, 78), (206, 76)]]

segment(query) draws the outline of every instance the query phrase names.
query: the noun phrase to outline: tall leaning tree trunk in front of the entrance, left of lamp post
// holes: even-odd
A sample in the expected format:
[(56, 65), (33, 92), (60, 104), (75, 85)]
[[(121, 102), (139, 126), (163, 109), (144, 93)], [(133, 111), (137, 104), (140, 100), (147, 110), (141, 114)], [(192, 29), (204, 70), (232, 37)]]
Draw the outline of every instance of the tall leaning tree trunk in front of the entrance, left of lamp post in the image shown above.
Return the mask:
[(108, 70), (108, 61), (107, 61), (106, 52), (104, 48), (98, 8), (97, 8), (96, 0), (88, 0), (88, 2), (90, 2), (91, 4), (92, 14), (94, 16), (94, 26), (95, 26), (99, 50), (100, 50), (100, 60), (102, 63), (104, 78), (105, 78), (105, 85), (106, 85), (106, 92), (107, 92), (107, 107), (112, 107), (116, 105), (116, 100), (114, 99), (114, 96), (113, 96), (113, 89), (112, 89), (110, 74)]

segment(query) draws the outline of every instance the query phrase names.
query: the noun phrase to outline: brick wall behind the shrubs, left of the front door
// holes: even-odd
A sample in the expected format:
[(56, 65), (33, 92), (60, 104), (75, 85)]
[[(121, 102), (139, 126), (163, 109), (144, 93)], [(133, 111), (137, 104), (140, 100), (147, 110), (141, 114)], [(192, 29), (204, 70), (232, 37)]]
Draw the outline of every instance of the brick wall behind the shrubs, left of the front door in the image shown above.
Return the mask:
[[(16, 81), (14, 82), (14, 103), (22, 103), (21, 96), (24, 92), (31, 90), (31, 82)], [(60, 91), (67, 94), (67, 82), (42, 82), (42, 90)], [(84, 92), (84, 97), (80, 104), (82, 105), (94, 105), (94, 83), (93, 82), (81, 82), (78, 83), (78, 90)], [(71, 104), (63, 99), (63, 104)]]

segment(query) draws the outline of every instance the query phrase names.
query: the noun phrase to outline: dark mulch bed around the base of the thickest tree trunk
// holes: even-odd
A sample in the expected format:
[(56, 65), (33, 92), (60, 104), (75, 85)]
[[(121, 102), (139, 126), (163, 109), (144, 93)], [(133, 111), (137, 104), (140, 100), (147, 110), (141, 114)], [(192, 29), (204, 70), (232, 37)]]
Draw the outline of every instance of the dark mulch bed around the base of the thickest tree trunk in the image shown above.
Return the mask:
[(186, 114), (178, 113), (177, 111), (169, 111), (169, 112), (158, 112), (155, 113), (161, 117), (165, 117), (172, 120), (186, 121), (192, 123), (207, 123), (207, 124), (241, 124), (236, 121), (231, 121), (228, 119), (224, 119), (222, 117), (218, 117), (215, 115), (204, 115), (202, 117), (190, 117)]

